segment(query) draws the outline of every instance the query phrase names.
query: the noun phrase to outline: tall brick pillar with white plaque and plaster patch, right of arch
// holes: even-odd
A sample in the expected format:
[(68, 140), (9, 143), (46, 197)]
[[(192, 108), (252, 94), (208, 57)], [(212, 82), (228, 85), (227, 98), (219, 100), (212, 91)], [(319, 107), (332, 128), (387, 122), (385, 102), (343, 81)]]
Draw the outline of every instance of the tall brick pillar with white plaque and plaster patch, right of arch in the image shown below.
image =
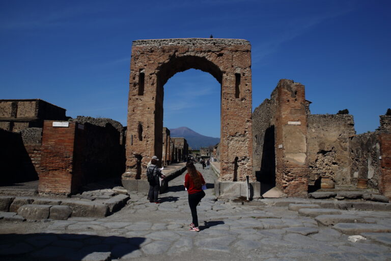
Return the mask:
[(277, 85), (277, 95), (276, 187), (287, 196), (306, 197), (308, 166), (304, 86), (283, 79)]

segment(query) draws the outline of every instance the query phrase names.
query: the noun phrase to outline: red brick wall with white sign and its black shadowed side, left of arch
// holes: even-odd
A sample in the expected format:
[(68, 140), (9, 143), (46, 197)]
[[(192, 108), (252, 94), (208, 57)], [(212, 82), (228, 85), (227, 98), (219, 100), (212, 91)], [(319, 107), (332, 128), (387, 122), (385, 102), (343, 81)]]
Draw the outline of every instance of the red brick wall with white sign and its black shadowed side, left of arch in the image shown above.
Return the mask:
[(89, 182), (120, 178), (125, 154), (118, 130), (110, 124), (65, 123), (68, 127), (44, 122), (40, 193), (72, 194)]

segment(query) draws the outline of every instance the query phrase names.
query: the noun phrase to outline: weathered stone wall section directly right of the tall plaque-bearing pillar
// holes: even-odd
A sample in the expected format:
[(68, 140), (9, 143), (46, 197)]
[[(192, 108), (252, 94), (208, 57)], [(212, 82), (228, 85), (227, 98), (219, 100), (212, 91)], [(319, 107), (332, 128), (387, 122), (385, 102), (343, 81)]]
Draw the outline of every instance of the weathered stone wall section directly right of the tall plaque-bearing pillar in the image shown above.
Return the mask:
[(321, 176), (337, 185), (350, 185), (349, 138), (355, 135), (353, 116), (347, 114), (308, 115), (309, 184)]

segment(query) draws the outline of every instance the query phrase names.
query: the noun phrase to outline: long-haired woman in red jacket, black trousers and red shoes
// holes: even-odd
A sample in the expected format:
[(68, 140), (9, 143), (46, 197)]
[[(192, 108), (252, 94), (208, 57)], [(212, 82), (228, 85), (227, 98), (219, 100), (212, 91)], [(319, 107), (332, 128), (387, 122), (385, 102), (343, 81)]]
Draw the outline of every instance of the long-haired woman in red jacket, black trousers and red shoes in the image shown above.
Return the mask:
[(185, 188), (189, 195), (189, 206), (191, 211), (191, 217), (193, 222), (190, 224), (190, 231), (200, 231), (198, 227), (197, 217), (197, 205), (201, 199), (205, 197), (205, 192), (202, 190), (202, 186), (206, 185), (202, 174), (195, 169), (192, 162), (186, 164), (187, 173), (185, 175)]

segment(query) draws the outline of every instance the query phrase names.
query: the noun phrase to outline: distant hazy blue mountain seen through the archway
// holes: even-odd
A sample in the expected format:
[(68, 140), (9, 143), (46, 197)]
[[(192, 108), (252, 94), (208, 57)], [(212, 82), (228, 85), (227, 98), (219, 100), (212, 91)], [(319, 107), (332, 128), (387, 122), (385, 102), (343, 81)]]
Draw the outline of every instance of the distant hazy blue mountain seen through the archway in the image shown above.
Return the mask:
[(183, 137), (191, 149), (200, 149), (200, 147), (209, 147), (220, 142), (220, 138), (213, 138), (194, 132), (188, 127), (179, 127), (170, 129), (171, 137)]

